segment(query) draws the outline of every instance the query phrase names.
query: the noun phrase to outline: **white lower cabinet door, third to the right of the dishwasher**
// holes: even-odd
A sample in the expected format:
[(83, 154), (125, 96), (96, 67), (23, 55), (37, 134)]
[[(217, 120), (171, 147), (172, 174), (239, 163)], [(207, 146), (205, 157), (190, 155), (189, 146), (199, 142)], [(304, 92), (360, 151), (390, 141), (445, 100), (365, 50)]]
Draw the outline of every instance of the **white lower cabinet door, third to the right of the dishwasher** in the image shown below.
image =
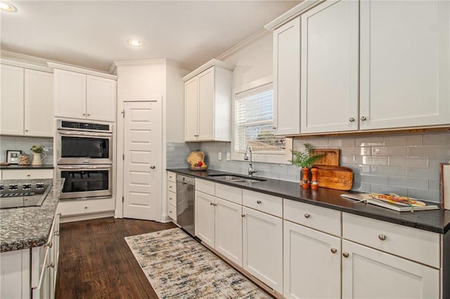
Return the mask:
[(243, 267), (283, 293), (283, 221), (243, 207)]

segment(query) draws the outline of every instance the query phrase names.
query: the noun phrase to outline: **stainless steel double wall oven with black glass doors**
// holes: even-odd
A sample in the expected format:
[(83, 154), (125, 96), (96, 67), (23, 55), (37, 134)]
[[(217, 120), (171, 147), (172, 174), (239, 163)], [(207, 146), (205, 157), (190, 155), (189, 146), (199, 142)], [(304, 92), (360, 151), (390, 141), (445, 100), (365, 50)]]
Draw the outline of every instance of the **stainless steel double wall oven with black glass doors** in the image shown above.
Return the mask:
[(65, 178), (61, 199), (113, 194), (113, 125), (58, 120), (56, 162)]

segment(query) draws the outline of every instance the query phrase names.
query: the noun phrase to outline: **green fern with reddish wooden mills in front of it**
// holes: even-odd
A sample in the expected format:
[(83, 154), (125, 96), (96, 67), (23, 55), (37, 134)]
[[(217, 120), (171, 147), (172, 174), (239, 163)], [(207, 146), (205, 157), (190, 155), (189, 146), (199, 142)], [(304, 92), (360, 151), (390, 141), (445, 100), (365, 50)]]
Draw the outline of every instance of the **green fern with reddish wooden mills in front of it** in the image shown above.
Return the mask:
[[(293, 159), (289, 161), (293, 165), (302, 168), (302, 187), (309, 188), (309, 170), (314, 166), (314, 164), (316, 164), (317, 161), (319, 161), (319, 159), (321, 159), (321, 157), (324, 157), (325, 154), (313, 154), (314, 145), (311, 145), (311, 143), (305, 143), (304, 150), (304, 152), (290, 150), (290, 152), (293, 153)], [(314, 174), (316, 174), (316, 172)], [(317, 182), (317, 180), (314, 181)], [(314, 189), (317, 189), (318, 187), (319, 185), (317, 185), (317, 183), (313, 185)]]

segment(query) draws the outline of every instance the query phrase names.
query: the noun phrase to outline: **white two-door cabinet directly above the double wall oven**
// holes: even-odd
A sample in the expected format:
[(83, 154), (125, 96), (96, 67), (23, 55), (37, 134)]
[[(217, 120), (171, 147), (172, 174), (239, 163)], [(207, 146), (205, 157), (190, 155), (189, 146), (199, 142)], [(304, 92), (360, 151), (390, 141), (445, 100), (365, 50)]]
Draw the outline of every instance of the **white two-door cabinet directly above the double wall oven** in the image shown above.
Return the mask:
[(55, 69), (55, 115), (114, 121), (115, 86), (113, 79)]

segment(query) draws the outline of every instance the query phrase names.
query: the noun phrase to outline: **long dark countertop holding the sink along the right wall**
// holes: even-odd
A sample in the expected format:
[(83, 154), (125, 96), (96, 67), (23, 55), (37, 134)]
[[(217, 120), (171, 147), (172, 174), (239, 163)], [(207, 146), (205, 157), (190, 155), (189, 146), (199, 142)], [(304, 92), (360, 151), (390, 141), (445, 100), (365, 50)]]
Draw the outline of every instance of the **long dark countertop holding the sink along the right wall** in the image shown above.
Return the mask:
[(439, 209), (432, 211), (416, 211), (414, 213), (397, 212), (380, 206), (366, 204), (364, 202), (355, 203), (352, 199), (341, 197), (340, 194), (348, 193), (346, 191), (326, 188), (319, 188), (319, 190), (303, 189), (298, 182), (288, 182), (270, 178), (264, 178), (266, 179), (264, 182), (230, 182), (207, 176), (220, 173), (231, 174), (224, 171), (214, 171), (209, 169), (207, 171), (191, 171), (187, 168), (167, 168), (167, 171), (183, 173), (195, 178), (212, 180), (225, 185), (241, 187), (243, 189), (271, 194), (285, 199), (302, 201), (315, 206), (333, 208), (338, 211), (366, 216), (368, 218), (383, 220), (408, 227), (415, 227), (420, 230), (437, 232), (439, 234), (445, 234), (450, 230), (449, 210)]

